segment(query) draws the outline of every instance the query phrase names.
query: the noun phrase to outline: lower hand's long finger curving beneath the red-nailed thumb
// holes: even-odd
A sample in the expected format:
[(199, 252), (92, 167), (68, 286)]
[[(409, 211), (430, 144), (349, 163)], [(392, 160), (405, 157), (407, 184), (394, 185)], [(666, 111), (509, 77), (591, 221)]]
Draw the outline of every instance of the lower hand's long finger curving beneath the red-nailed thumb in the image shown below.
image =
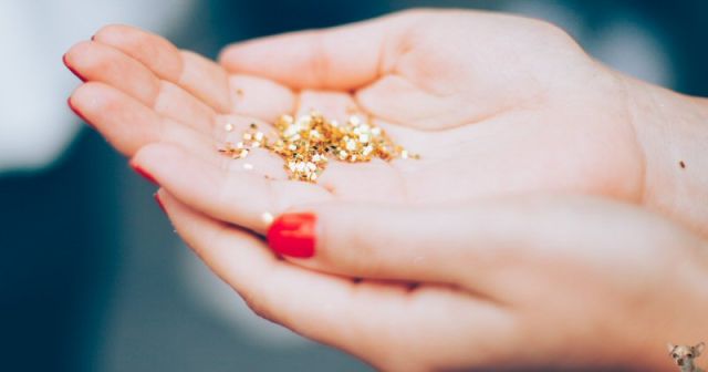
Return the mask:
[[(257, 314), (379, 369), (483, 363), (493, 359), (489, 345), (518, 335), (500, 308), (455, 289), (421, 286), (412, 291), (302, 270), (279, 260), (253, 235), (195, 213), (164, 189), (157, 198), (187, 245)], [(485, 337), (460, 339), (459, 330)], [(436, 344), (446, 348), (430, 358)]]

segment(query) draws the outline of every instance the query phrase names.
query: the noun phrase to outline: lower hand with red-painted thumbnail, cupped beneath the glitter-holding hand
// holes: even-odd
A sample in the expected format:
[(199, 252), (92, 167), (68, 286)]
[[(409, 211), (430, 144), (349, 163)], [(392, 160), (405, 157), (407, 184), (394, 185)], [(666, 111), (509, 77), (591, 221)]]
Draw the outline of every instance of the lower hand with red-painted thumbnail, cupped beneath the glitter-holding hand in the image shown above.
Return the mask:
[(303, 270), (158, 195), (187, 244), (257, 313), (378, 369), (660, 370), (671, 368), (668, 340), (708, 334), (708, 244), (628, 205), (315, 205), (269, 236), (280, 251), (293, 237), (313, 247), (295, 259), (314, 269)]

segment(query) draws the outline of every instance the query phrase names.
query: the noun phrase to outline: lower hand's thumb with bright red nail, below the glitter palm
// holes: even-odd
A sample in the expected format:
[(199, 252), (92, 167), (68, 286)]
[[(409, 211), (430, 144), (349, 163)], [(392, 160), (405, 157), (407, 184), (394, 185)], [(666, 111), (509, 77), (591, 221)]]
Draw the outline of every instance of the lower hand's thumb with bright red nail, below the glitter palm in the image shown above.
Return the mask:
[[(460, 208), (320, 205), (279, 216), (268, 230), (275, 252), (298, 265), (350, 277), (457, 282), (452, 266), (472, 256)], [(457, 262), (457, 264), (456, 264)], [(464, 264), (469, 270), (469, 262)]]

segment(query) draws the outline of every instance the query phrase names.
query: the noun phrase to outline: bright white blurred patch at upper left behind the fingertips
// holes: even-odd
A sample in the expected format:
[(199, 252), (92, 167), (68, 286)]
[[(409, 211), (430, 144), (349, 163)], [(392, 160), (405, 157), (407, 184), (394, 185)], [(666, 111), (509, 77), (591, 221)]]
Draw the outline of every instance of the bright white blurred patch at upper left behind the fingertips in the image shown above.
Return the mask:
[(62, 54), (107, 23), (158, 33), (177, 27), (196, 0), (0, 0), (0, 172), (55, 161), (80, 128), (66, 107), (77, 85)]

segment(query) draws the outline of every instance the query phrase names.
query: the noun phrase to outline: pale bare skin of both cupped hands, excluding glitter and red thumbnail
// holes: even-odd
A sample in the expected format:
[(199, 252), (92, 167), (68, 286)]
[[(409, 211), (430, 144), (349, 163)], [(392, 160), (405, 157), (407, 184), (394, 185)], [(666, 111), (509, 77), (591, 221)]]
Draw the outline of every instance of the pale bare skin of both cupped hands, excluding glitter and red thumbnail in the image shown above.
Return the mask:
[[(658, 368), (666, 361), (647, 350), (698, 337), (683, 320), (697, 313), (668, 307), (706, 308), (690, 294), (702, 290), (708, 234), (702, 100), (613, 72), (546, 23), (478, 12), (404, 12), (236, 44), (220, 59), (107, 27), (65, 56), (86, 81), (70, 104), (156, 178), (177, 230), (258, 313), (407, 371)], [(251, 122), (267, 128), (311, 108), (364, 113), (421, 159), (332, 162), (312, 185), (288, 182), (271, 154), (231, 161), (215, 151)], [(616, 202), (500, 199), (533, 193)], [(346, 220), (342, 208), (365, 214), (334, 229), (339, 245), (288, 262), (250, 231), (266, 230), (264, 211), (293, 208), (321, 221)], [(323, 217), (326, 208), (340, 213)], [(346, 249), (347, 234), (376, 227), (387, 209), (400, 219), (382, 219), (387, 229), (367, 235), (376, 241)], [(414, 218), (428, 215), (437, 218)], [(398, 220), (421, 226), (388, 231)]]

